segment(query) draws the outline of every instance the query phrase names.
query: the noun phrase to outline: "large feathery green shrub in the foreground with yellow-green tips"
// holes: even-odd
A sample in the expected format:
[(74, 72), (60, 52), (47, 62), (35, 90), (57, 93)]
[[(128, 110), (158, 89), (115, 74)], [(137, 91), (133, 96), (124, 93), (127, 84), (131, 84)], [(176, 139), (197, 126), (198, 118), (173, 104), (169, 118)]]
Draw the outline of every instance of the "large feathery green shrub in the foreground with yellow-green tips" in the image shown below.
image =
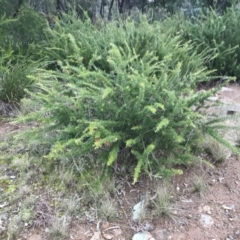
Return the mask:
[[(40, 127), (24, 139), (42, 139), (49, 145), (43, 156), (50, 162), (74, 159), (89, 168), (85, 156), (91, 153), (94, 165), (130, 163), (134, 182), (141, 171), (180, 173), (173, 165), (197, 159), (194, 148), (203, 133), (218, 138), (211, 128), (214, 120), (208, 124), (198, 112), (218, 90), (196, 92), (201, 81), (212, 79), (212, 71), (203, 67), (209, 56), (206, 51), (197, 54), (193, 45), (182, 44), (171, 32), (160, 32), (157, 23), (122, 24), (108, 25), (103, 31), (86, 29), (81, 41), (70, 33), (61, 34), (69, 55), (58, 61), (57, 70), (39, 69), (30, 76), (39, 91), (29, 94), (39, 110), (21, 120), (37, 121)], [(91, 31), (98, 39), (86, 63), (84, 43), (90, 41)], [(101, 52), (102, 39), (110, 35), (113, 41), (105, 41)], [(59, 36), (55, 37), (58, 43)], [(122, 159), (126, 149), (131, 157)]]

